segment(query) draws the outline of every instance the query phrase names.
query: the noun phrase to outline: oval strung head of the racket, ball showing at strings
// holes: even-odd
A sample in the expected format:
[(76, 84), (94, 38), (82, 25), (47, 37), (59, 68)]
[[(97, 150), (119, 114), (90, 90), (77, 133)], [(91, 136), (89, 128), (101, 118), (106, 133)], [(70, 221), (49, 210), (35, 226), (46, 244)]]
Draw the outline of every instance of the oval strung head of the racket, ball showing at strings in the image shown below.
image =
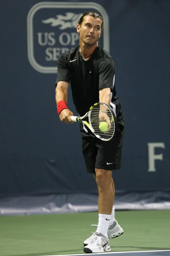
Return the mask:
[(113, 137), (115, 122), (111, 111), (105, 105), (96, 105), (91, 110), (89, 124), (101, 138), (108, 140)]

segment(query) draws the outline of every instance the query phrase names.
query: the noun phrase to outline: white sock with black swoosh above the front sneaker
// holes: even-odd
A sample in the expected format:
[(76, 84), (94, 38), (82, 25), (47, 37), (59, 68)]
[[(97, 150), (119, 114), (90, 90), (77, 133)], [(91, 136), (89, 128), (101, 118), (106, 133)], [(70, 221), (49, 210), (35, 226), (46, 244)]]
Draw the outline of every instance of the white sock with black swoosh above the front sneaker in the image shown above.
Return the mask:
[(100, 232), (102, 233), (102, 235), (108, 237), (108, 227), (109, 227), (110, 220), (111, 220), (110, 214), (99, 213), (99, 223), (97, 225), (96, 232)]

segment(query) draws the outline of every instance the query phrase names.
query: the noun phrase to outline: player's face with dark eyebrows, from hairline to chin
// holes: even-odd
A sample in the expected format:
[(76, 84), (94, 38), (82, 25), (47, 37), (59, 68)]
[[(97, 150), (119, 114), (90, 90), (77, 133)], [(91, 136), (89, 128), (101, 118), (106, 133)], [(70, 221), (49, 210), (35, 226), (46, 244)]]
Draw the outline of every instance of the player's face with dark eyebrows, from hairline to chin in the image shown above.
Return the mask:
[(92, 16), (85, 16), (82, 25), (77, 25), (79, 38), (87, 45), (93, 45), (102, 34), (102, 20)]

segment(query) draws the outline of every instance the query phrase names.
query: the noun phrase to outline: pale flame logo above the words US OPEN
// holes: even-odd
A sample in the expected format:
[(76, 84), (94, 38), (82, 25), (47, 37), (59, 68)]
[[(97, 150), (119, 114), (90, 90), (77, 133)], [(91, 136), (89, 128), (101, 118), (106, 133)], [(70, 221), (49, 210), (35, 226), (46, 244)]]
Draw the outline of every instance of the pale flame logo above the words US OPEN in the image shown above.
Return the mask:
[(50, 26), (59, 26), (59, 29), (77, 28), (78, 20), (83, 14), (76, 14), (73, 12), (66, 12), (65, 15), (56, 15), (56, 18), (48, 18), (42, 20), (42, 23), (50, 24)]

